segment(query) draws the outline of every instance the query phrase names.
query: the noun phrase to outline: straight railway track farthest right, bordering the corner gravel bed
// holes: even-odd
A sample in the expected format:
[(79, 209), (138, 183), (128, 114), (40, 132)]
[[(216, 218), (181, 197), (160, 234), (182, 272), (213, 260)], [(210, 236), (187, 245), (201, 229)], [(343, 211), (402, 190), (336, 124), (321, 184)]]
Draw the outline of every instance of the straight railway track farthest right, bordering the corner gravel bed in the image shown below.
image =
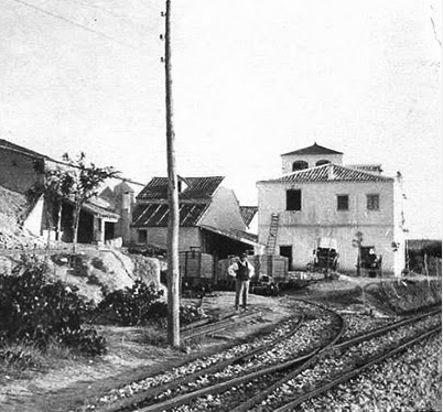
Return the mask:
[[(334, 348), (311, 358), (301, 368), (269, 388), (266, 393), (260, 393), (231, 410), (235, 412), (252, 408), (255, 411), (296, 410), (302, 403), (346, 382), (370, 366), (441, 332), (440, 314), (440, 311), (434, 311), (337, 344)], [(435, 316), (437, 322), (429, 321), (432, 316)], [(402, 338), (404, 328), (408, 328), (410, 335)], [(380, 339), (385, 339), (385, 343), (380, 343)], [(377, 345), (380, 347), (377, 348)]]

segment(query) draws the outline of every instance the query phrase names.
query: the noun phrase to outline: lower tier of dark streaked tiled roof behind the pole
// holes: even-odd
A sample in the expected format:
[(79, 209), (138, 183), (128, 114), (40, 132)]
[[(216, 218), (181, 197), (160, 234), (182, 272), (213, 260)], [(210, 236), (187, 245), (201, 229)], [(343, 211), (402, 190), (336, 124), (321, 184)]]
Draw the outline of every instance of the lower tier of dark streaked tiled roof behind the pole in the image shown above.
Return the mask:
[[(180, 226), (195, 226), (208, 204), (181, 204), (179, 206)], [(133, 227), (166, 227), (169, 219), (168, 204), (136, 205), (132, 215)]]

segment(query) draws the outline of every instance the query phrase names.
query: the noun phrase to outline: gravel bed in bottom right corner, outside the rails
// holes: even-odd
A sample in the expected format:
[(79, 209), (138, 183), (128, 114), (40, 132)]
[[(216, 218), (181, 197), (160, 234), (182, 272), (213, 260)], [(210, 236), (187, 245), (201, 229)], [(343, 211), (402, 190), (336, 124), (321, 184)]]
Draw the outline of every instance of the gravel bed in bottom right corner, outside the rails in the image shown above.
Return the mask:
[(433, 336), (301, 405), (304, 412), (442, 410), (442, 337)]

